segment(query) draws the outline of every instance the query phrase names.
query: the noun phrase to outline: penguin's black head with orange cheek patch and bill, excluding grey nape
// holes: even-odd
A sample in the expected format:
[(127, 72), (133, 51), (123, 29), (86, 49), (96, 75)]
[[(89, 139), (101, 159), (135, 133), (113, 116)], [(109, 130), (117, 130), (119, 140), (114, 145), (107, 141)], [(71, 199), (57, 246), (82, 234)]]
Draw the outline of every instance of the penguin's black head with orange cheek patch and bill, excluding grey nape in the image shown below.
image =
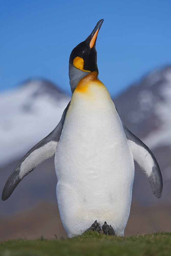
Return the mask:
[(104, 19), (99, 20), (92, 33), (86, 38), (86, 40), (81, 42), (72, 50), (69, 65), (73, 65), (75, 68), (85, 72), (98, 72), (95, 43), (103, 20)]

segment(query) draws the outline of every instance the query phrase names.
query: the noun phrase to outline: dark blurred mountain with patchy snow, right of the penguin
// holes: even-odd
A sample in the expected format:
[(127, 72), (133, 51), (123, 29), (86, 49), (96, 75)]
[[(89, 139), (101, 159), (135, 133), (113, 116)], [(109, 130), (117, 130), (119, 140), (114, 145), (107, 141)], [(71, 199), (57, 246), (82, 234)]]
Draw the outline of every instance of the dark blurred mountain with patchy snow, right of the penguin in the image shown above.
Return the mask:
[(124, 123), (149, 147), (171, 145), (171, 67), (149, 73), (114, 102)]

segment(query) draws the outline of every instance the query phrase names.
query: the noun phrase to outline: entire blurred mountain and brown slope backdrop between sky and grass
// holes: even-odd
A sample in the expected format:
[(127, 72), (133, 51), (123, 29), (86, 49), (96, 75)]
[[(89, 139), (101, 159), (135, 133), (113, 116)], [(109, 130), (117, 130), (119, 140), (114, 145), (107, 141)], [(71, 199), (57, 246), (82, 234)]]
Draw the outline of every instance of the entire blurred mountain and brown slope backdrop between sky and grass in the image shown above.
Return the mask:
[[(32, 79), (0, 94), (0, 192), (27, 151), (60, 121), (70, 96), (44, 79)], [(163, 176), (157, 199), (135, 163), (130, 218), (125, 234), (170, 231), (171, 66), (155, 69), (113, 98), (127, 128), (153, 152)], [(0, 239), (66, 237), (56, 200), (54, 157), (42, 162), (0, 201)]]

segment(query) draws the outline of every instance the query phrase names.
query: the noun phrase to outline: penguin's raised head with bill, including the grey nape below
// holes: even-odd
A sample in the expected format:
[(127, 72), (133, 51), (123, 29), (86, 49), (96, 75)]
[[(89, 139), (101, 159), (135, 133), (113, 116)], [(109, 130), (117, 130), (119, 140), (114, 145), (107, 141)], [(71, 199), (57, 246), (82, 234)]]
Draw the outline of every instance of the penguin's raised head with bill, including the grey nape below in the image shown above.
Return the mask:
[(74, 91), (78, 82), (90, 72), (96, 71), (97, 67), (97, 51), (95, 43), (97, 35), (104, 19), (99, 20), (92, 33), (77, 45), (71, 52), (69, 58), (69, 80), (71, 92)]

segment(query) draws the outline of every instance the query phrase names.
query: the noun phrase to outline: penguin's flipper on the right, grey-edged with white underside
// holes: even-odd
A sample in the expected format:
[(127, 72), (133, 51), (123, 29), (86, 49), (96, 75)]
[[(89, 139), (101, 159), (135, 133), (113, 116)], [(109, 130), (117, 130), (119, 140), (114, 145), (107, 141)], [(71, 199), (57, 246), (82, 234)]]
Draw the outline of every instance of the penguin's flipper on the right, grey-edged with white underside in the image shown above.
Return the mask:
[(151, 150), (139, 138), (130, 132), (123, 123), (122, 125), (127, 141), (131, 147), (134, 160), (145, 173), (152, 187), (153, 194), (157, 198), (160, 198), (163, 190), (163, 179), (156, 158)]

